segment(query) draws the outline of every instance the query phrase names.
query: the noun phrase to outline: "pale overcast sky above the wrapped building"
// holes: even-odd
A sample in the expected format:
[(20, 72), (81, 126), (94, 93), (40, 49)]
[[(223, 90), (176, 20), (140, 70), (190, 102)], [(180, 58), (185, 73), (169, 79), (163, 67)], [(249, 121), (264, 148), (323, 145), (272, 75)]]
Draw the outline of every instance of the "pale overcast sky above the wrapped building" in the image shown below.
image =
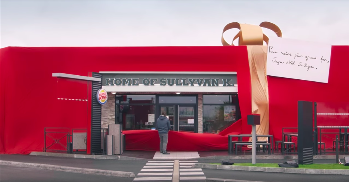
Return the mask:
[[(1, 0), (7, 46), (221, 46), (230, 22), (349, 45), (348, 0)], [(275, 36), (272, 31), (264, 30)], [(231, 42), (237, 33), (229, 31)]]

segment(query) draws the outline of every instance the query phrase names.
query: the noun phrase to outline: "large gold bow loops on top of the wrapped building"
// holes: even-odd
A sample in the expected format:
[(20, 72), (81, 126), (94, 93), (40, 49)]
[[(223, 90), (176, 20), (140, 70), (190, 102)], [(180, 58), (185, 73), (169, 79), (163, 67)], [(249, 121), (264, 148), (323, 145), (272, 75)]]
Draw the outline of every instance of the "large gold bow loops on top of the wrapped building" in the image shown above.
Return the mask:
[[(239, 38), (239, 46), (262, 46), (263, 41), (265, 41), (266, 43), (268, 43), (269, 41), (267, 35), (265, 35), (262, 31), (262, 27), (274, 31), (277, 37), (282, 37), (280, 28), (270, 22), (262, 22), (261, 24), (259, 24), (259, 26), (233, 22), (225, 25), (221, 38), (222, 44), (223, 46), (234, 46), (233, 41)], [(227, 43), (223, 38), (224, 32), (230, 29), (240, 30), (239, 33), (235, 35), (233, 41), (231, 42), (231, 45)]]

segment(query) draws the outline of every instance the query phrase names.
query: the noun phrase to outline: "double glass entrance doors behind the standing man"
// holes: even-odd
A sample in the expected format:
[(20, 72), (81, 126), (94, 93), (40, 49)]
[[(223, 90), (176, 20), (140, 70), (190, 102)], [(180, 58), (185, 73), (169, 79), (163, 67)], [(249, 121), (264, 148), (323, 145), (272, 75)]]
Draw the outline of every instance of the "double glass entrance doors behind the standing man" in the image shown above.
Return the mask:
[(160, 105), (169, 116), (171, 130), (180, 132), (195, 132), (195, 105)]

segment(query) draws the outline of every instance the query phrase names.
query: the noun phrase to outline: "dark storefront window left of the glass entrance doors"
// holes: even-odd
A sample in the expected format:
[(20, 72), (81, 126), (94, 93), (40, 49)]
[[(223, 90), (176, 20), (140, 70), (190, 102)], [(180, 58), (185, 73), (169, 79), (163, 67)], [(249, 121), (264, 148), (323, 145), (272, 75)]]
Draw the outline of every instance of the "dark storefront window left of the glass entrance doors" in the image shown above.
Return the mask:
[(123, 130), (155, 127), (155, 95), (116, 95), (117, 123)]

